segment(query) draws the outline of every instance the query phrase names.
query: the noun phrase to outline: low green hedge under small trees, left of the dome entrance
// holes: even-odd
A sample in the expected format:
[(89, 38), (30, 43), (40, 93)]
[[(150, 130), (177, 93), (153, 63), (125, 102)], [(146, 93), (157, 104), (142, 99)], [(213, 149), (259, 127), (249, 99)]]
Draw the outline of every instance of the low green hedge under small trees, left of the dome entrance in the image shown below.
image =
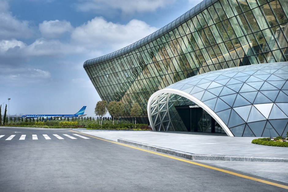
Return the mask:
[(87, 129), (115, 129), (115, 130), (152, 130), (147, 124), (135, 124), (133, 123), (120, 123), (120, 124), (103, 124), (102, 126), (95, 123), (89, 123)]

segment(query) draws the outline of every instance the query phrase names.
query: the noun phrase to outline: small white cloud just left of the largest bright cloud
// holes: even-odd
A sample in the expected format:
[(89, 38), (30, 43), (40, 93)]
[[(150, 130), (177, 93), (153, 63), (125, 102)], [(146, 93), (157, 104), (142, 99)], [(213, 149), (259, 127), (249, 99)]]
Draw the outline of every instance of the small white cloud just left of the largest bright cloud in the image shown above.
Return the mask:
[(68, 21), (43, 21), (39, 24), (39, 30), (45, 38), (60, 37), (66, 32), (70, 32), (73, 29)]

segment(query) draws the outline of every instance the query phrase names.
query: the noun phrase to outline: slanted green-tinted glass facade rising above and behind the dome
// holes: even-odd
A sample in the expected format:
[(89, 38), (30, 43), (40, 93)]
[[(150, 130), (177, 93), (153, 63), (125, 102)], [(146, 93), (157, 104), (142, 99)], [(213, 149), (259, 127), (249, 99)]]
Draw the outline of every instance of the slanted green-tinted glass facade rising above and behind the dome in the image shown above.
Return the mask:
[[(165, 27), (84, 68), (102, 100), (138, 102), (191, 76), (288, 60), (288, 0), (206, 0)], [(132, 118), (131, 118), (132, 120)], [(185, 130), (183, 128), (183, 130)]]

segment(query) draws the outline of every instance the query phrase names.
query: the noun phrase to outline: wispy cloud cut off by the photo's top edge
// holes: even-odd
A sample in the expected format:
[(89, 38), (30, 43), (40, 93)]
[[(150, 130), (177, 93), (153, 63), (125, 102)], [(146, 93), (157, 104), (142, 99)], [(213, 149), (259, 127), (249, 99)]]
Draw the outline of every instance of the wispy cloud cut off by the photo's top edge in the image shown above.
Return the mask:
[(79, 0), (76, 9), (79, 11), (113, 12), (120, 10), (124, 14), (153, 12), (164, 8), (175, 0)]

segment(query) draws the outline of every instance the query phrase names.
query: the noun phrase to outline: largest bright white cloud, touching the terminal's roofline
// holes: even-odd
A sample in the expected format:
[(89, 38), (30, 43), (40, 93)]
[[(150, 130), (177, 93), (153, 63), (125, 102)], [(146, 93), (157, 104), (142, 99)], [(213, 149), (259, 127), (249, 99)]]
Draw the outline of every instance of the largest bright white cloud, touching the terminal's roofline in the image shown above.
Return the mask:
[(107, 22), (102, 17), (95, 17), (77, 27), (72, 32), (71, 38), (87, 48), (110, 48), (113, 51), (126, 47), (156, 30), (157, 28), (136, 19), (131, 20), (126, 25), (121, 25)]

